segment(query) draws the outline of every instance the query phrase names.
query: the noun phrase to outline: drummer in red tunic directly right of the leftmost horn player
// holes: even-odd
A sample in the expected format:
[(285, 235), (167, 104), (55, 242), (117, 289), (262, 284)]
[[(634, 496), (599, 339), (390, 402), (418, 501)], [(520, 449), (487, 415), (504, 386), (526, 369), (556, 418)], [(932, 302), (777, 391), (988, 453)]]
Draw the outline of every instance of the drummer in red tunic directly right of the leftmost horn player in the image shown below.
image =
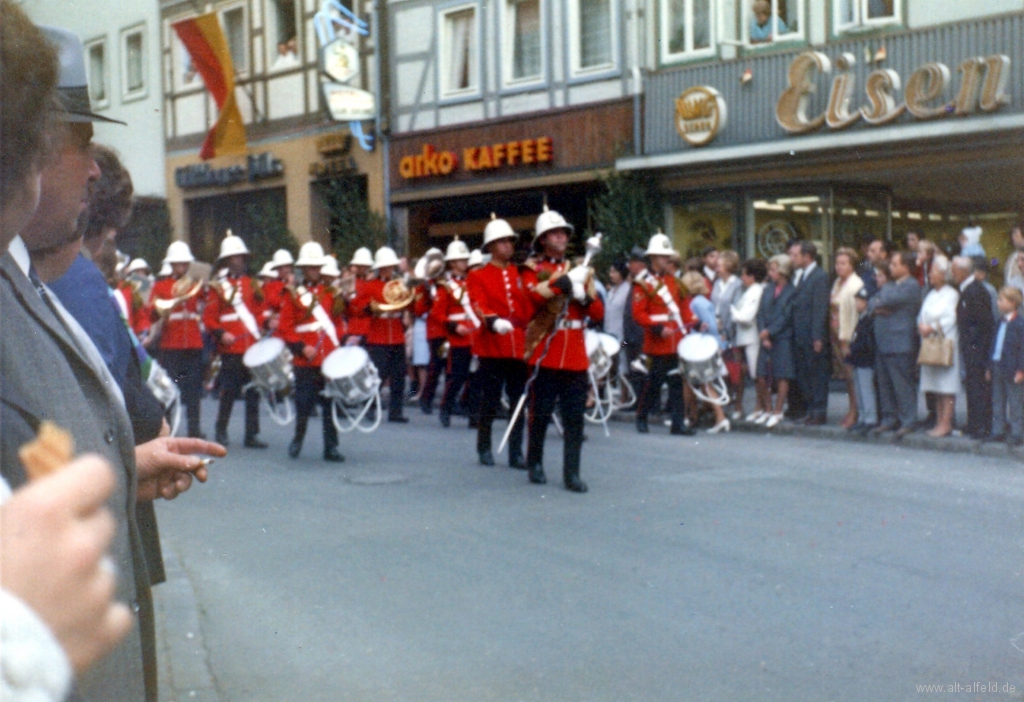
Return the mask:
[[(249, 249), (239, 236), (228, 235), (220, 243), (217, 258), (217, 280), (210, 286), (203, 323), (217, 341), (220, 352), (220, 407), (217, 411), (215, 436), (217, 443), (227, 445), (227, 423), (231, 419), (234, 400), (252, 380), (242, 362), (242, 356), (262, 336), (263, 293), (258, 283), (247, 275)], [(259, 391), (246, 391), (247, 448), (266, 448), (259, 440)]]

